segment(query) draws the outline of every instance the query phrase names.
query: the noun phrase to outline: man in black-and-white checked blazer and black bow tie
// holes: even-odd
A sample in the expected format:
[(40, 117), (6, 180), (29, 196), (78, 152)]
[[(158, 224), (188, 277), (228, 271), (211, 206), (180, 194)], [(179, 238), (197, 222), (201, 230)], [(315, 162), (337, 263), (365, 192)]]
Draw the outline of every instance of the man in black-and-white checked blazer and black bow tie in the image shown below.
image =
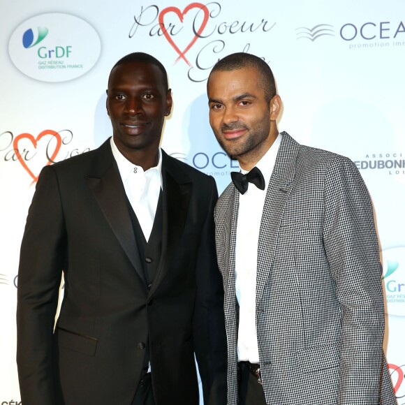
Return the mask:
[[(238, 287), (235, 279), (244, 269), (238, 270), (235, 257), (241, 257), (236, 246), (244, 249), (237, 244), (244, 232), (237, 226), (244, 196), (232, 182), (215, 209), (225, 289), (228, 404), (396, 404), (383, 353), (378, 239), (369, 193), (357, 168), (343, 156), (279, 134), (281, 100), (261, 59), (249, 54), (221, 59), (207, 91), (216, 138), (238, 159), (242, 172), (260, 168), (263, 156), (279, 142), (265, 179), (257, 250), (252, 253), (257, 262), (256, 292), (251, 291), (256, 293), (256, 365), (239, 358), (238, 336), (246, 330), (239, 329), (243, 308), (237, 291), (244, 286)], [(258, 190), (246, 184), (246, 195)], [(252, 218), (255, 209), (248, 214)], [(260, 381), (249, 372), (252, 367)], [(246, 373), (249, 383), (240, 399)], [(252, 390), (261, 394), (252, 395)]]

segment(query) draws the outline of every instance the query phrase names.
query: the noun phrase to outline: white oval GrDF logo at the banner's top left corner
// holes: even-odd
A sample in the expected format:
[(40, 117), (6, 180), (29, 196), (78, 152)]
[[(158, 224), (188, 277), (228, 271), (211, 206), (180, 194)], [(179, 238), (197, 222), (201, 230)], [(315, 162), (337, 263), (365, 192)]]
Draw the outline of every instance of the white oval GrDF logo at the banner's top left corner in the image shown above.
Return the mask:
[(14, 66), (43, 82), (66, 82), (84, 75), (96, 64), (100, 52), (94, 27), (65, 13), (46, 13), (23, 21), (8, 42)]

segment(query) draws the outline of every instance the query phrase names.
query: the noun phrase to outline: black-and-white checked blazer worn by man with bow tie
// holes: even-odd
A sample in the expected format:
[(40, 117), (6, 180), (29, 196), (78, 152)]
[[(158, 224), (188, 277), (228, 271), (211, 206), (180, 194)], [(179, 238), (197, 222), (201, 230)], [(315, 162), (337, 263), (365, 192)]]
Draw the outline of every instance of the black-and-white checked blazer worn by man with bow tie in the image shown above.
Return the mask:
[[(349, 159), (282, 135), (258, 242), (256, 327), (266, 402), (396, 404), (383, 354), (381, 264), (367, 188)], [(238, 207), (231, 183), (215, 209), (228, 405), (238, 404)]]

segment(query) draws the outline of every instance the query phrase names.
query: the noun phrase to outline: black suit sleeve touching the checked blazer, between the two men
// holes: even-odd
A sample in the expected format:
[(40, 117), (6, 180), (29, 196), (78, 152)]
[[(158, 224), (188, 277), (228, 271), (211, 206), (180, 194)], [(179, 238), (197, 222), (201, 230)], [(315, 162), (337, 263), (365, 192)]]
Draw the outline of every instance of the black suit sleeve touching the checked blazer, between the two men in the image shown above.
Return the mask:
[(214, 206), (218, 198), (211, 177), (211, 194), (201, 233), (196, 265), (196, 307), (193, 339), (202, 380), (204, 404), (226, 404), (226, 332), (223, 284), (218, 270), (214, 238)]

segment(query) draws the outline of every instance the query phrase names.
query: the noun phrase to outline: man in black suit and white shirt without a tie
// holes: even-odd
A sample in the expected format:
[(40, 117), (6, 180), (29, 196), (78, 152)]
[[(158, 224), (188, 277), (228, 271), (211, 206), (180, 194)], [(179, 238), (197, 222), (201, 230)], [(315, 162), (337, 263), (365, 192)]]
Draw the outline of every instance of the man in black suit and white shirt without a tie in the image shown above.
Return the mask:
[[(212, 177), (160, 149), (165, 68), (134, 53), (110, 73), (113, 136), (46, 166), (22, 240), (17, 365), (27, 405), (226, 403)], [(64, 300), (54, 327), (59, 285)]]

